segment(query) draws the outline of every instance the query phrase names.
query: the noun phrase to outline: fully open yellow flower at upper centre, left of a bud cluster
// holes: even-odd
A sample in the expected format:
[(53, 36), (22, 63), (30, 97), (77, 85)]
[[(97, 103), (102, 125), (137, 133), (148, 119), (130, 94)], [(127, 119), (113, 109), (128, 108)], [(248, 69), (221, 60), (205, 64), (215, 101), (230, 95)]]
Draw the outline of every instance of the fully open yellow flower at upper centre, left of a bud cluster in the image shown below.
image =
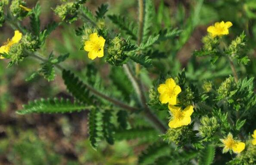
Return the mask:
[(88, 58), (94, 60), (97, 57), (103, 57), (105, 39), (101, 36), (98, 37), (97, 33), (90, 34), (89, 38), (90, 40), (85, 41), (84, 43), (84, 50), (89, 52)]

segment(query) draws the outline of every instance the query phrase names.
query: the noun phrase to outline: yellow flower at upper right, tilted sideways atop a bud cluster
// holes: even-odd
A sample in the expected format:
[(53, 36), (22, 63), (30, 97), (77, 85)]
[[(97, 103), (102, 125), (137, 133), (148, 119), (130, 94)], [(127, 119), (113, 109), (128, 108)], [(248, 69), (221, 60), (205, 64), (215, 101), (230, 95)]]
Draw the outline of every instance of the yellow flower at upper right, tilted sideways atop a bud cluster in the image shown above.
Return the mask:
[(207, 32), (209, 32), (213, 38), (216, 36), (227, 35), (229, 33), (228, 28), (231, 27), (232, 25), (233, 24), (230, 21), (216, 22), (214, 26), (209, 26), (207, 28)]

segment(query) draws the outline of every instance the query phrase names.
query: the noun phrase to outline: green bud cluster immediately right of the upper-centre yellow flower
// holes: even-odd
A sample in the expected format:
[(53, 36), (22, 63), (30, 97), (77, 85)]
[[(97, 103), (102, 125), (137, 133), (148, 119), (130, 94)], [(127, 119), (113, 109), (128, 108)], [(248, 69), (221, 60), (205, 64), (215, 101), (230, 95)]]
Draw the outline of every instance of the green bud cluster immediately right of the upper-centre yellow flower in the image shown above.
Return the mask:
[(125, 40), (122, 40), (119, 36), (112, 39), (107, 50), (108, 55), (106, 57), (106, 61), (111, 65), (122, 65), (127, 58), (127, 55), (124, 53), (124, 48)]

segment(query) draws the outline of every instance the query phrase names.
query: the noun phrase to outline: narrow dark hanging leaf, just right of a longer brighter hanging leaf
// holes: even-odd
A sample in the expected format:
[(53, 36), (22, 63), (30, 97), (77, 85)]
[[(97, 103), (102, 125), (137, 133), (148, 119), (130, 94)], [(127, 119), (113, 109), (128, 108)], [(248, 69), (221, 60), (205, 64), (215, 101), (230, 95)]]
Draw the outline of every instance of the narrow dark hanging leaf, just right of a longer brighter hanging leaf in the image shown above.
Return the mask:
[(109, 144), (114, 144), (114, 124), (112, 123), (111, 118), (111, 110), (105, 110), (105, 112), (103, 113), (103, 136)]

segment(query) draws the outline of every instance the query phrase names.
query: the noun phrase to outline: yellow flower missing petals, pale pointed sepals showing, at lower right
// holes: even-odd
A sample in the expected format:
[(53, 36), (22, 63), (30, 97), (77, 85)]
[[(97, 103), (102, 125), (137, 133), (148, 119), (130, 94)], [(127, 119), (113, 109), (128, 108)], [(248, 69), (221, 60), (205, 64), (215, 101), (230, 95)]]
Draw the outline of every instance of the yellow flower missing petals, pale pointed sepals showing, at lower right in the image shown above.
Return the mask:
[(220, 139), (220, 141), (224, 144), (223, 153), (227, 153), (229, 150), (234, 153), (240, 153), (245, 148), (245, 143), (234, 140), (231, 133), (228, 133), (228, 136), (225, 139)]

